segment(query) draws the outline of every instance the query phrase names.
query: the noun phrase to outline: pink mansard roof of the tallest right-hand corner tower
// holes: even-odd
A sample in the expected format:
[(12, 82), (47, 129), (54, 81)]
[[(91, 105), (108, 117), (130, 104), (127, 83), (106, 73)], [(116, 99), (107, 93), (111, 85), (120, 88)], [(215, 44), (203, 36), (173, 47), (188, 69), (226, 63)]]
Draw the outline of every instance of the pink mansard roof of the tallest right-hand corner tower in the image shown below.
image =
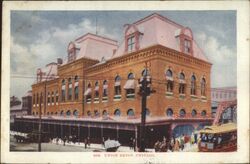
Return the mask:
[[(180, 51), (180, 43), (177, 36), (183, 29), (186, 29), (186, 27), (156, 13), (143, 18), (132, 25), (142, 34), (139, 41), (140, 49), (159, 44)], [(130, 29), (127, 29), (128, 34), (133, 32), (133, 27), (131, 26)], [(185, 34), (193, 38), (191, 30), (190, 32), (187, 31)], [(123, 40), (116, 53), (113, 55), (113, 58), (125, 54), (125, 40)], [(193, 56), (203, 61), (208, 61), (195, 40), (193, 40)]]

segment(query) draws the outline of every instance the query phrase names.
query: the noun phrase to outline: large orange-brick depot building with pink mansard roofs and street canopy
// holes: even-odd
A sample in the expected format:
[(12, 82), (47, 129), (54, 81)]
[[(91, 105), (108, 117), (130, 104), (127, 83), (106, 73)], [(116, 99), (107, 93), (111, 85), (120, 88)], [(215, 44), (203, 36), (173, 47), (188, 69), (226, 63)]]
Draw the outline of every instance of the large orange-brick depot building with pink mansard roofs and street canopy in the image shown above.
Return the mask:
[(96, 143), (109, 137), (127, 145), (140, 133), (138, 79), (145, 74), (155, 90), (147, 96), (146, 147), (210, 124), (212, 64), (192, 30), (154, 13), (123, 32), (119, 45), (87, 33), (69, 41), (66, 60), (38, 68), (32, 115), (16, 118), (16, 126), (37, 130), (41, 110), (42, 129), (51, 137)]

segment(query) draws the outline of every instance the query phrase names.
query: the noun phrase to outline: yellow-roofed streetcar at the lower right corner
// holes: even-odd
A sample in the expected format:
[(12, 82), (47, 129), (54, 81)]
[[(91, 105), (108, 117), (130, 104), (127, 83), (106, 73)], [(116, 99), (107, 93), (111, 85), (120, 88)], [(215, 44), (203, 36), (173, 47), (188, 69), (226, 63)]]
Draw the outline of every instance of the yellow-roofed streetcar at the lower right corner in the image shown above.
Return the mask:
[(199, 132), (199, 152), (232, 152), (237, 150), (237, 125), (235, 123), (206, 126)]

